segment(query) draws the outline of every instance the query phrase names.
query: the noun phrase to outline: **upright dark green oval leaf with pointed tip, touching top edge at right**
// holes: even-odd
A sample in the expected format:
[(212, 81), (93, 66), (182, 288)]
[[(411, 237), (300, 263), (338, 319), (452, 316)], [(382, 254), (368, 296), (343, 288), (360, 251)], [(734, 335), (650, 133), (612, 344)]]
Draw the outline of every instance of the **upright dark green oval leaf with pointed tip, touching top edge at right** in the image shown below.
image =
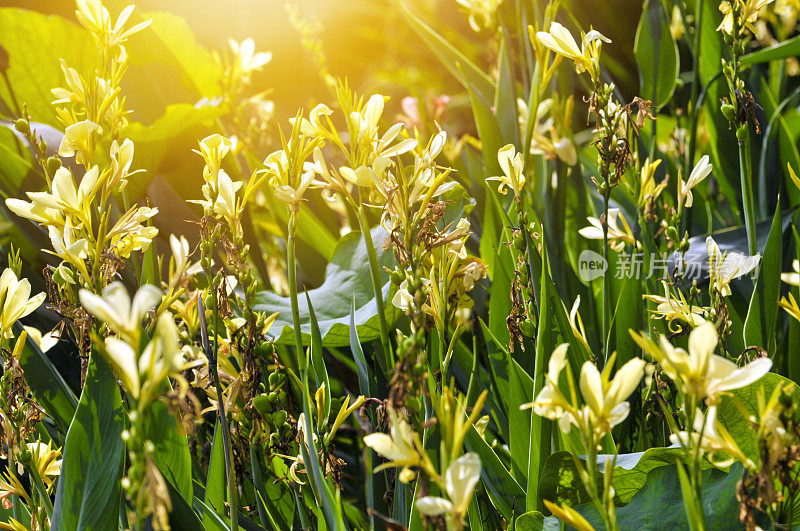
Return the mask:
[(680, 59), (669, 19), (658, 0), (645, 2), (633, 50), (639, 65), (641, 96), (660, 109), (675, 91)]

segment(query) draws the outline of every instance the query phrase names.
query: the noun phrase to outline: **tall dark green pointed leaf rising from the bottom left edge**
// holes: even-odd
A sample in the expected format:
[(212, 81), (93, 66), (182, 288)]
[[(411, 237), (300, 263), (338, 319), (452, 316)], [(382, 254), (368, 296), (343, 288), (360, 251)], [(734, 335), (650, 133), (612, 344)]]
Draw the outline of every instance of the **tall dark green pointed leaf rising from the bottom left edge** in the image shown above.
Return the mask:
[(125, 463), (117, 379), (92, 349), (78, 409), (64, 443), (53, 530), (116, 529)]

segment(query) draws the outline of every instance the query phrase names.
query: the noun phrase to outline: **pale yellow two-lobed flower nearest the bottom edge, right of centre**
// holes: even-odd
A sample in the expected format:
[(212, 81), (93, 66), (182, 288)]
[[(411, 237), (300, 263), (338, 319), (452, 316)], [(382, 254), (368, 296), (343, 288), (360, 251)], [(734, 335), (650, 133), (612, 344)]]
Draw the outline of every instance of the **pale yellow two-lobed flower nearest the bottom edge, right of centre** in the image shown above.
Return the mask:
[(423, 496), (417, 500), (417, 510), (426, 516), (446, 515), (451, 527), (459, 528), (467, 514), (475, 485), (481, 476), (478, 454), (464, 454), (447, 467), (445, 490), (449, 499)]

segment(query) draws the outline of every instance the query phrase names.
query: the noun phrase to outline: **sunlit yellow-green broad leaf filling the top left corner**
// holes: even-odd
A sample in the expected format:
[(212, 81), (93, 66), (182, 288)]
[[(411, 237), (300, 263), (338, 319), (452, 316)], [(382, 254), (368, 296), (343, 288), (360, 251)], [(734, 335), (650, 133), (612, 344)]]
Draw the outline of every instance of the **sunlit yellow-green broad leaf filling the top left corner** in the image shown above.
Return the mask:
[(0, 8), (0, 46), (8, 52), (6, 75), (14, 91), (12, 97), (8, 85), (0, 83), (0, 99), (16, 112), (24, 102), (34, 121), (60, 127), (50, 92), (64, 84), (59, 59), (87, 72), (97, 61), (89, 34), (61, 17), (6, 7)]

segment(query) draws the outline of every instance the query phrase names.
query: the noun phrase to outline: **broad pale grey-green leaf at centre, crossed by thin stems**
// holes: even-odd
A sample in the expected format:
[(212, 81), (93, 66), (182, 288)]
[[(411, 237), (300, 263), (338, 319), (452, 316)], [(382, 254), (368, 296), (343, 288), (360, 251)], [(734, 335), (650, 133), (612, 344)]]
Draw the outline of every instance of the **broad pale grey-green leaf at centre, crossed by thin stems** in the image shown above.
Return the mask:
[[(372, 229), (372, 240), (378, 255), (378, 266), (381, 271), (381, 284), (385, 300), (389, 297), (389, 275), (384, 268), (393, 267), (394, 258), (390, 251), (383, 251), (382, 244), (386, 232), (376, 227)], [(314, 306), (319, 323), (323, 346), (350, 345), (350, 304), (355, 301), (355, 323), (358, 336), (362, 342), (372, 341), (380, 337), (377, 304), (375, 303), (370, 268), (367, 260), (367, 249), (359, 233), (352, 232), (342, 237), (336, 244), (331, 262), (325, 271), (322, 285), (307, 292)], [(299, 294), (300, 322), (305, 342), (310, 342), (310, 316), (308, 303)], [(268, 313), (278, 312), (272, 325), (277, 341), (292, 344), (292, 309), (289, 297), (281, 297), (270, 291), (261, 291), (255, 296), (254, 309)], [(386, 304), (387, 322), (394, 322), (398, 314), (394, 306)]]

